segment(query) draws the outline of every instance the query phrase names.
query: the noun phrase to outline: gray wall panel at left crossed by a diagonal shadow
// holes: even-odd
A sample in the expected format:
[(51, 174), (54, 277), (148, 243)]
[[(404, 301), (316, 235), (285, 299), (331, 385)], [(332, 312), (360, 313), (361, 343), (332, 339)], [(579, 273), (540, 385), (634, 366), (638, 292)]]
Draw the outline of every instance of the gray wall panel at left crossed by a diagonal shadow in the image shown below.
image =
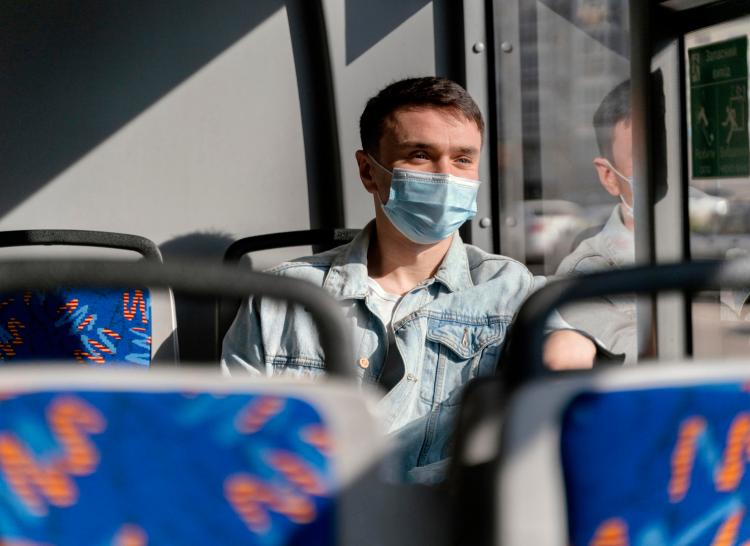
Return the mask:
[[(4, 95), (11, 95), (6, 98), (20, 103), (22, 111), (36, 106), (42, 113), (32, 118), (33, 135), (16, 135), (36, 148), (10, 148), (0, 229), (131, 232), (166, 246), (168, 258), (175, 247), (186, 254), (218, 255), (230, 238), (308, 228), (305, 153), (286, 10), (281, 1), (250, 4), (227, 2), (212, 9), (215, 28), (192, 19), (170, 22), (166, 13), (138, 2), (116, 11), (126, 19), (140, 15), (140, 26), (113, 27), (103, 19), (113, 16), (114, 8), (94, 3), (82, 8), (90, 11), (84, 14), (89, 26), (66, 26), (64, 17), (48, 22), (70, 47), (87, 40), (79, 34), (98, 28), (101, 51), (63, 55), (46, 49), (54, 43), (36, 44), (39, 57), (58, 62), (34, 64), (29, 55), (23, 58), (30, 65), (27, 73), (11, 73), (15, 91), (6, 89)], [(208, 17), (193, 14), (204, 15)], [(174, 28), (178, 24), (182, 31)], [(148, 34), (157, 29), (161, 39)], [(207, 44), (216, 40), (211, 31), (226, 33), (225, 42), (211, 44), (212, 49)], [(16, 40), (34, 37), (16, 32)], [(133, 56), (140, 56), (138, 66), (123, 54), (123, 36), (147, 43), (143, 48), (148, 51), (133, 50)], [(173, 50), (178, 46), (187, 49)], [(202, 54), (204, 64), (170, 73), (181, 55), (192, 59)], [(148, 96), (151, 88), (144, 90), (144, 80), (154, 88)], [(34, 85), (57, 88), (41, 95), (31, 89)], [(21, 94), (30, 89), (36, 105), (23, 103)], [(66, 105), (60, 97), (70, 89), (88, 94), (70, 97)], [(143, 100), (135, 104), (137, 97)], [(45, 116), (44, 110), (55, 111)], [(79, 149), (71, 148), (71, 140), (81, 143)], [(38, 167), (66, 147), (71, 149), (58, 162), (61, 168), (45, 172)], [(36, 185), (33, 191), (14, 188), (29, 184)]]

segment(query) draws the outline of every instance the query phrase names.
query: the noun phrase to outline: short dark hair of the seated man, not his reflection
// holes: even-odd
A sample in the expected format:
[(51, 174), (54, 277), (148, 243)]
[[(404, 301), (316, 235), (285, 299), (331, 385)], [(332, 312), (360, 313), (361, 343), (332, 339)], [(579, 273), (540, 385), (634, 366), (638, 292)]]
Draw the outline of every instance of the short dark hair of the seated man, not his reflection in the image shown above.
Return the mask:
[(390, 84), (367, 101), (359, 118), (362, 148), (376, 153), (388, 117), (401, 108), (444, 108), (477, 124), (484, 134), (484, 120), (477, 103), (456, 82), (433, 76), (407, 78)]

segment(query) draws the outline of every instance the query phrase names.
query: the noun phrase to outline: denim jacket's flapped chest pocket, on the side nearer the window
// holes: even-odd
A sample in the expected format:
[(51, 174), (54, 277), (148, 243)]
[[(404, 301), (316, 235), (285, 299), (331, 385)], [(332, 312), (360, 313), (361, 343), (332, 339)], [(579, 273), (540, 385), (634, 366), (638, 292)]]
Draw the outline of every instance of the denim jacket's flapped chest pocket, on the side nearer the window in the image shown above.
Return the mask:
[(474, 377), (494, 373), (507, 328), (505, 321), (471, 324), (429, 319), (422, 399), (458, 404), (460, 387)]

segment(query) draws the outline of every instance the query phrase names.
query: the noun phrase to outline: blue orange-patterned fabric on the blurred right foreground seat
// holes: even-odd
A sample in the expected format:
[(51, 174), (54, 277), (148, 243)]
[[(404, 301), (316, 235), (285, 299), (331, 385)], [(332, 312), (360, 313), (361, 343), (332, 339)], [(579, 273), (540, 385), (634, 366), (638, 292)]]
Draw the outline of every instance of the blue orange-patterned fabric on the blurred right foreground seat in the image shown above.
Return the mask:
[(561, 438), (571, 544), (750, 544), (747, 384), (582, 394)]

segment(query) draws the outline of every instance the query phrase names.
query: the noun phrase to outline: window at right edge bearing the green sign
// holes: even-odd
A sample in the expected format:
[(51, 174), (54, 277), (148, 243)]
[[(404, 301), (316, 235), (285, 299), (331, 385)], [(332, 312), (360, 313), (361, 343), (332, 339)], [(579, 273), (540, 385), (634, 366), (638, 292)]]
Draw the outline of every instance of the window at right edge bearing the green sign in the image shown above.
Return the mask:
[[(742, 17), (685, 36), (688, 216), (694, 259), (750, 255), (749, 34), (750, 17)], [(748, 294), (722, 291), (694, 299), (696, 356), (747, 353)]]

